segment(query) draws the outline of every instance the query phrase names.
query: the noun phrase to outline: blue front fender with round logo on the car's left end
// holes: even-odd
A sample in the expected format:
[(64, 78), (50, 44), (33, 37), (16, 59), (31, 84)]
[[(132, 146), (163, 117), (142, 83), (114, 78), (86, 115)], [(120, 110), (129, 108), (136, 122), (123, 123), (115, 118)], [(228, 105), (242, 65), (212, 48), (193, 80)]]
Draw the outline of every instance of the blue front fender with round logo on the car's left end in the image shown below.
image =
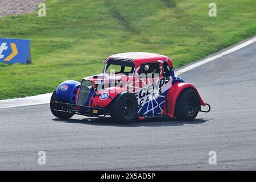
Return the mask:
[(80, 82), (75, 80), (67, 80), (62, 82), (56, 89), (56, 97), (58, 101), (76, 104), (77, 90), (80, 87)]

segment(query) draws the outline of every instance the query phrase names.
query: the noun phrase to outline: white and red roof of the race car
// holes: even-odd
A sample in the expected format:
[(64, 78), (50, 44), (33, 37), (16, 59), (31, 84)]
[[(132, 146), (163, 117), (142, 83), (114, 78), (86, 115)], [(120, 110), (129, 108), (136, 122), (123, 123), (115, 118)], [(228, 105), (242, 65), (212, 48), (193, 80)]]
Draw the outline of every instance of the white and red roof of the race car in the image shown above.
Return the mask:
[(123, 52), (117, 53), (115, 55), (109, 56), (109, 59), (116, 60), (126, 60), (126, 61), (134, 61), (135, 64), (142, 64), (148, 61), (162, 60), (168, 61), (170, 58), (164, 55), (159, 55), (157, 53), (150, 52)]

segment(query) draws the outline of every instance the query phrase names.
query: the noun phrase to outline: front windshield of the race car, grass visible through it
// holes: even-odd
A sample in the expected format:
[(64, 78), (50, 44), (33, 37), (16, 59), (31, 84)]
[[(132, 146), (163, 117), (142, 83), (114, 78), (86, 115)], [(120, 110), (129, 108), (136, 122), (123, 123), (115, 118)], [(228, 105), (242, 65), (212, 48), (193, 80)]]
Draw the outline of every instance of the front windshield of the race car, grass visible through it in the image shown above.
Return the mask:
[(133, 74), (134, 63), (131, 61), (122, 61), (122, 60), (108, 60), (106, 64), (105, 73), (123, 73), (125, 75)]

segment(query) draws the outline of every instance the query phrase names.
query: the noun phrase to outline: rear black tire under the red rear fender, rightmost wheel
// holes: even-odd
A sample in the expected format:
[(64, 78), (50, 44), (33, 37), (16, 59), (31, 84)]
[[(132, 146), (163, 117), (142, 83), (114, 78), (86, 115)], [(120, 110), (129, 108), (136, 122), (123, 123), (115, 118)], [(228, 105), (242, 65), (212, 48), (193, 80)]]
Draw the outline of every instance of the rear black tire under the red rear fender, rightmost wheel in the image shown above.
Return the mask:
[(192, 121), (200, 110), (200, 100), (196, 90), (183, 90), (176, 102), (175, 116), (182, 121)]

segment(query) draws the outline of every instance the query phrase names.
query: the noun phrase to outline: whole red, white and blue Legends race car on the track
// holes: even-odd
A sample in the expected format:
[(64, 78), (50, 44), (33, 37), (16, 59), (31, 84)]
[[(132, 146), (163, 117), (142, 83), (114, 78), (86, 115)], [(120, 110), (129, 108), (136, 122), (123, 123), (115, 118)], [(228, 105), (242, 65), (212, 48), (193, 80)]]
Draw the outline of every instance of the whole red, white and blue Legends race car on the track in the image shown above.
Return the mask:
[(119, 123), (164, 117), (193, 120), (199, 111), (210, 111), (195, 86), (175, 76), (170, 57), (146, 52), (109, 56), (100, 75), (62, 82), (50, 106), (57, 118), (110, 115)]

